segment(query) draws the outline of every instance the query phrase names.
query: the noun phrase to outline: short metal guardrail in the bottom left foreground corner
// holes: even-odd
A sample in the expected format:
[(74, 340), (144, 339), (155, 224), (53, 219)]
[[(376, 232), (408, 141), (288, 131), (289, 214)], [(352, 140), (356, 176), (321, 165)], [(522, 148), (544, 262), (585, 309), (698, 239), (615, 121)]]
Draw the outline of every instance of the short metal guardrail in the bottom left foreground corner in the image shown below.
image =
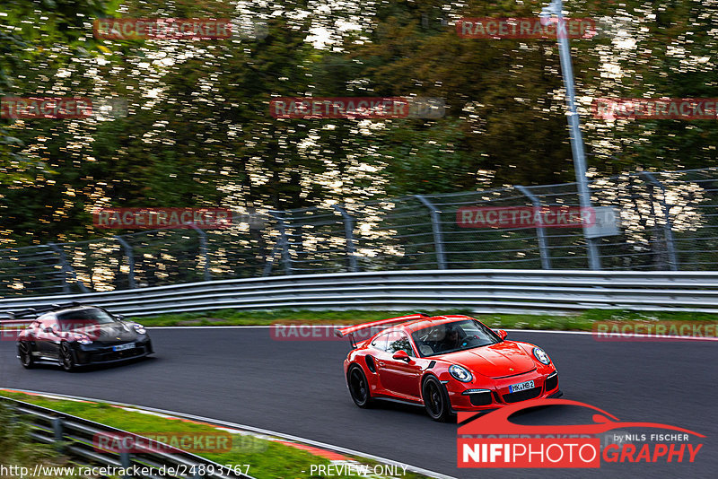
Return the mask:
[[(18, 414), (30, 418), (31, 438), (33, 440), (46, 444), (56, 444), (57, 449), (59, 449), (62, 454), (77, 458), (82, 461), (83, 464), (114, 466), (122, 469), (137, 466), (137, 468), (140, 469), (143, 467), (153, 467), (159, 471), (162, 466), (166, 466), (165, 471), (169, 470), (169, 467), (173, 467), (175, 471), (178, 469), (195, 472), (198, 470), (205, 471), (205, 474), (202, 475), (162, 475), (162, 477), (175, 477), (178, 479), (188, 477), (192, 479), (202, 479), (206, 477), (216, 477), (219, 479), (253, 479), (250, 475), (234, 474), (234, 472), (229, 471), (227, 467), (184, 451), (172, 453), (152, 450), (142, 453), (98, 452), (94, 449), (92, 443), (95, 434), (132, 435), (138, 438), (142, 436), (105, 426), (99, 422), (88, 421), (70, 414), (60, 413), (46, 407), (31, 405), (30, 403), (8, 397), (0, 396), (0, 402), (10, 405)], [(147, 438), (143, 439), (145, 439), (147, 443), (151, 442)], [(208, 468), (215, 471), (215, 473), (209, 474), (207, 471)], [(161, 476), (143, 475), (126, 477), (159, 479)]]

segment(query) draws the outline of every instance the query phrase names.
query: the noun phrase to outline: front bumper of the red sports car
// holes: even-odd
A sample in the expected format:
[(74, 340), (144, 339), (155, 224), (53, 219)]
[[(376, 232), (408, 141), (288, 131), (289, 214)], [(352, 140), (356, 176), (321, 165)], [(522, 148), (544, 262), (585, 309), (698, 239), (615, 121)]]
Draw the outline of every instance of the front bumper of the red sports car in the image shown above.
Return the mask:
[[(534, 381), (534, 388), (511, 393), (509, 386), (526, 381)], [(548, 374), (533, 370), (509, 378), (492, 379), (489, 387), (476, 387), (456, 380), (442, 381), (449, 395), (451, 409), (454, 411), (491, 411), (506, 405), (512, 405), (529, 399), (558, 397), (562, 393), (558, 388), (558, 372)]]

